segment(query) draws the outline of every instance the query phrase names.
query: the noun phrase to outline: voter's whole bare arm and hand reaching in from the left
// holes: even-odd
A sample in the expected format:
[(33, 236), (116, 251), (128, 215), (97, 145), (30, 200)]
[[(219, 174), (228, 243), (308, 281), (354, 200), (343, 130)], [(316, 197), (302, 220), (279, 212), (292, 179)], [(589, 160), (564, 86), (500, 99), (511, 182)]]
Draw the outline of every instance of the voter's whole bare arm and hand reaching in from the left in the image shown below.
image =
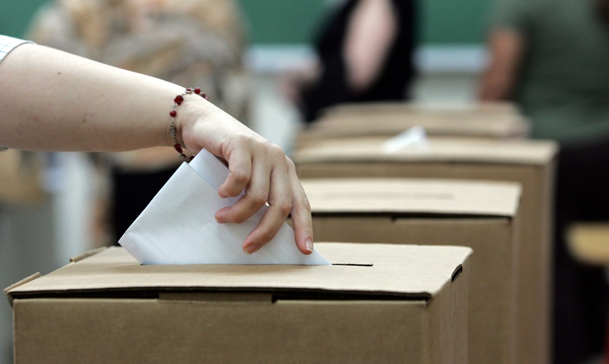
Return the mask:
[[(182, 91), (153, 77), (23, 44), (0, 63), (0, 145), (64, 151), (173, 145), (169, 110)], [(231, 173), (220, 195), (247, 192), (233, 207), (218, 211), (216, 219), (242, 222), (268, 201), (270, 208), (244, 250), (252, 253), (268, 242), (291, 212), (298, 248), (309, 253), (311, 210), (294, 163), (202, 97), (185, 98), (176, 117), (179, 141), (192, 153), (205, 147), (228, 161)]]

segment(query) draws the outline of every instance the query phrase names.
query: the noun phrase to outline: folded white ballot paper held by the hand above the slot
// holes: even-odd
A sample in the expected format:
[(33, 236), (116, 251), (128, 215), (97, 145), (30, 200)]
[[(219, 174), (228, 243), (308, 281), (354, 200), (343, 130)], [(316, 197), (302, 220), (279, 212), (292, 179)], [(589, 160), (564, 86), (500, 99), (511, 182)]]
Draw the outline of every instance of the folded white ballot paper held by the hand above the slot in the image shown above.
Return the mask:
[(217, 189), (227, 176), (228, 168), (202, 150), (177, 169), (119, 243), (141, 264), (330, 264), (317, 250), (300, 253), (286, 223), (256, 253), (244, 253), (245, 237), (268, 207), (243, 223), (217, 223), (216, 211), (243, 195), (220, 198)]

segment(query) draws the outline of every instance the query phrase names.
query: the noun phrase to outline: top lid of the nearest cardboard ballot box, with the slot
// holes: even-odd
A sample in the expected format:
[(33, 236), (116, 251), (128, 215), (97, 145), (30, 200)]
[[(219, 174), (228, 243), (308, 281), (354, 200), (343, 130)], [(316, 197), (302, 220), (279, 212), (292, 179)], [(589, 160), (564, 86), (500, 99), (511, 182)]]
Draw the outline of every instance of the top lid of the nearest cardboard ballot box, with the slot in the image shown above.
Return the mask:
[(108, 248), (7, 291), (12, 299), (133, 296), (167, 291), (313, 292), (433, 299), (471, 254), (466, 247), (316, 243), (336, 265), (140, 265)]

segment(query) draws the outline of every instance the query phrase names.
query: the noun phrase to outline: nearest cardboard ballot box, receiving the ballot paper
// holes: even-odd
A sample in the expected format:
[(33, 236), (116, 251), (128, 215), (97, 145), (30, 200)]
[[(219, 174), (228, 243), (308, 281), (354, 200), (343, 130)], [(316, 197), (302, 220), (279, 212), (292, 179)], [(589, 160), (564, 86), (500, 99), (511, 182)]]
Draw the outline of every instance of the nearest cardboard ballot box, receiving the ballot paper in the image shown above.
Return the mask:
[(317, 243), (334, 265), (140, 265), (6, 290), (16, 363), (466, 363), (467, 247)]

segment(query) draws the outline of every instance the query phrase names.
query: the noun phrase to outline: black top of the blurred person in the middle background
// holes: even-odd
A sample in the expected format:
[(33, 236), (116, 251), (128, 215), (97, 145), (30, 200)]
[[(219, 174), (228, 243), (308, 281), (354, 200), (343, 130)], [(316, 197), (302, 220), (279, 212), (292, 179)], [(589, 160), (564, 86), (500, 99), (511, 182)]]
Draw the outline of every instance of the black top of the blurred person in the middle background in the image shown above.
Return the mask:
[(342, 48), (348, 20), (359, 0), (348, 0), (322, 27), (315, 49), (322, 64), (320, 79), (303, 92), (303, 113), (314, 121), (323, 108), (345, 102), (368, 102), (408, 99), (408, 86), (415, 70), (412, 55), (415, 47), (414, 0), (392, 0), (398, 15), (398, 35), (393, 41), (378, 78), (370, 87), (354, 93), (347, 86)]

